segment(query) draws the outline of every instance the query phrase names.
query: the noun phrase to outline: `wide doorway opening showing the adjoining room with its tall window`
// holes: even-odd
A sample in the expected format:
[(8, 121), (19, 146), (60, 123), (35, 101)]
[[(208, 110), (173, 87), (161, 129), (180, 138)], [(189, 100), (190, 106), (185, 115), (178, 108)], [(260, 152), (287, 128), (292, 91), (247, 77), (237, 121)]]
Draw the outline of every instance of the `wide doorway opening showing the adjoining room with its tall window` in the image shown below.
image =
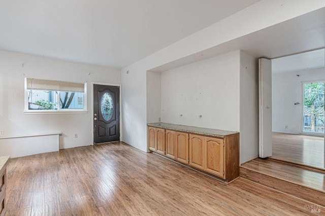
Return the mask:
[(325, 169), (324, 49), (272, 60), (272, 157)]

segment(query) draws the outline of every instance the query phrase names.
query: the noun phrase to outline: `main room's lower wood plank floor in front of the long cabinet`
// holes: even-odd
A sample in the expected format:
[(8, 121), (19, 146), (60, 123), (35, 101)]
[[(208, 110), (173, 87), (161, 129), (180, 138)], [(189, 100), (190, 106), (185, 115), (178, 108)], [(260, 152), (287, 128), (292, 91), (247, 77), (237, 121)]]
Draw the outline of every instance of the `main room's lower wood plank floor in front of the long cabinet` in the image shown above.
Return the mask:
[(312, 205), (245, 179), (226, 185), (120, 142), (15, 158), (7, 171), (6, 216), (310, 215)]

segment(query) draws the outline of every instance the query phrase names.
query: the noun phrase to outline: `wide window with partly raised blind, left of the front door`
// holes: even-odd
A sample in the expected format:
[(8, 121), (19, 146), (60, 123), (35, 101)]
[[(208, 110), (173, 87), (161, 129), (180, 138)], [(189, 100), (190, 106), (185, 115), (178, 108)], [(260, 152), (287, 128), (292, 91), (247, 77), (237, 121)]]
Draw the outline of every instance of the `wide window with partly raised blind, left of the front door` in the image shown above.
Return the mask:
[(25, 78), (25, 112), (86, 110), (86, 83)]

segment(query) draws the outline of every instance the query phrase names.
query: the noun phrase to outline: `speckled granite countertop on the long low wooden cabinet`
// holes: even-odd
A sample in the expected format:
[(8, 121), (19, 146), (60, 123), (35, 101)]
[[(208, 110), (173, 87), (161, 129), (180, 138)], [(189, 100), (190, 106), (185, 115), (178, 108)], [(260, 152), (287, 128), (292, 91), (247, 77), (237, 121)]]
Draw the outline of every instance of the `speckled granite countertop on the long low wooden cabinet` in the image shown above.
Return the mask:
[(221, 131), (219, 129), (210, 129), (210, 128), (203, 128), (203, 127), (193, 127), (193, 126), (185, 126), (179, 124), (170, 124), (170, 123), (148, 123), (148, 126), (164, 128), (164, 129), (171, 129), (173, 131), (179, 131), (189, 134), (198, 134), (210, 137), (217, 137), (217, 138), (224, 138), (225, 136), (238, 134), (238, 132), (232, 131)]

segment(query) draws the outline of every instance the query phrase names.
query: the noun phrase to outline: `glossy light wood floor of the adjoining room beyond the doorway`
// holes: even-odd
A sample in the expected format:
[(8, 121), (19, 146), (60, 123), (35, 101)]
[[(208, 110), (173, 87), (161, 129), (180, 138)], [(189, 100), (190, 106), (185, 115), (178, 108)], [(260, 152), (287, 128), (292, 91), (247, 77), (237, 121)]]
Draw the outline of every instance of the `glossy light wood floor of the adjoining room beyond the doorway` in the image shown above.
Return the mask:
[(274, 159), (324, 169), (324, 138), (273, 133)]

